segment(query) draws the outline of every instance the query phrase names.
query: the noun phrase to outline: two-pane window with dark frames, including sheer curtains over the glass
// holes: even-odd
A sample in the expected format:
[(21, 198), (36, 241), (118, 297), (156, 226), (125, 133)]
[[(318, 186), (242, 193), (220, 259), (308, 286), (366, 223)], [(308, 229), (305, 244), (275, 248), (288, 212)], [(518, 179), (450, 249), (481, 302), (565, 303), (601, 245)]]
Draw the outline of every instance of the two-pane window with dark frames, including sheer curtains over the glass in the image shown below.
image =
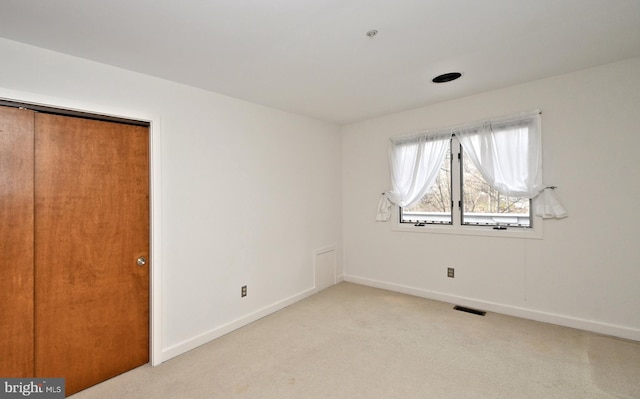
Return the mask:
[(396, 151), (400, 141), (392, 140), (391, 154), (396, 155), (392, 162), (403, 165), (395, 170), (392, 167), (392, 174), (419, 176), (419, 167), (407, 169), (406, 165), (430, 164), (432, 175), (423, 180), (429, 185), (421, 192), (412, 186), (420, 196), (405, 198), (404, 204), (400, 195), (393, 196), (401, 192), (394, 185), (396, 190), (389, 194), (399, 205), (400, 223), (496, 230), (533, 227), (531, 198), (541, 190), (539, 113), (448, 129), (448, 135), (442, 132), (424, 133), (432, 147), (444, 147), (440, 158), (434, 157), (433, 151), (421, 152), (417, 141), (399, 139), (404, 140), (404, 154), (407, 146), (415, 147), (415, 158), (407, 159)]

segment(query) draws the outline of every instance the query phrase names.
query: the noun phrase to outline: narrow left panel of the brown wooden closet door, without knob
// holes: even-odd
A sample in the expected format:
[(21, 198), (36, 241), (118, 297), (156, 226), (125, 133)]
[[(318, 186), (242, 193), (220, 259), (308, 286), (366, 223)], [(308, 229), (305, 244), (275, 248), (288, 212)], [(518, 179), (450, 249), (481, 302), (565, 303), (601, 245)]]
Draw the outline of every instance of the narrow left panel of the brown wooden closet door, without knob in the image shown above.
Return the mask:
[(0, 107), (0, 376), (33, 376), (33, 112)]

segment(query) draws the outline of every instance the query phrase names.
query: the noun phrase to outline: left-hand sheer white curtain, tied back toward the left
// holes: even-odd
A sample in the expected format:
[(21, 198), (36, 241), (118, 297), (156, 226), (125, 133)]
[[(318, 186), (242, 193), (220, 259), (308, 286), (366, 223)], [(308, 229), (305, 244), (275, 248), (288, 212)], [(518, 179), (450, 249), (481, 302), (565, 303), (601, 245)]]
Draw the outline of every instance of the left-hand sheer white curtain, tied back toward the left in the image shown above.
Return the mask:
[(387, 221), (391, 205), (411, 206), (431, 188), (449, 148), (451, 135), (423, 133), (391, 139), (389, 169), (391, 190), (378, 202), (376, 220)]

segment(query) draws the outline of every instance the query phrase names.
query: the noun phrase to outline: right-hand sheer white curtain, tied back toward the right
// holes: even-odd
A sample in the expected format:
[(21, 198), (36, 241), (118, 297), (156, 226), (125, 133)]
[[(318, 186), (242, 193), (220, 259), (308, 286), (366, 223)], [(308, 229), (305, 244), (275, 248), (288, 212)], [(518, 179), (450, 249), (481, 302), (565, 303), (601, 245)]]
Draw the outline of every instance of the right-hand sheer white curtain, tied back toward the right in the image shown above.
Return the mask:
[(510, 197), (539, 196), (535, 210), (543, 218), (567, 216), (553, 190), (545, 192), (542, 184), (539, 112), (454, 129), (453, 133), (491, 187)]

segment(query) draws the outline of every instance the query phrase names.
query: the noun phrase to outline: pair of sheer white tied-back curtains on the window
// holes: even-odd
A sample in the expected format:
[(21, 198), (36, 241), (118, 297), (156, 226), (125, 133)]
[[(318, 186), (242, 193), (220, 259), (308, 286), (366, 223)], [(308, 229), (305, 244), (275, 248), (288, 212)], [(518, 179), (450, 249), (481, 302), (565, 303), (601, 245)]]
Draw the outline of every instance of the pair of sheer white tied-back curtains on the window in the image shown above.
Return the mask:
[(510, 197), (537, 197), (534, 210), (542, 218), (567, 216), (555, 190), (545, 190), (542, 184), (540, 112), (535, 111), (391, 139), (392, 188), (380, 198), (376, 220), (389, 220), (392, 204), (411, 206), (429, 191), (452, 134), (491, 187)]

